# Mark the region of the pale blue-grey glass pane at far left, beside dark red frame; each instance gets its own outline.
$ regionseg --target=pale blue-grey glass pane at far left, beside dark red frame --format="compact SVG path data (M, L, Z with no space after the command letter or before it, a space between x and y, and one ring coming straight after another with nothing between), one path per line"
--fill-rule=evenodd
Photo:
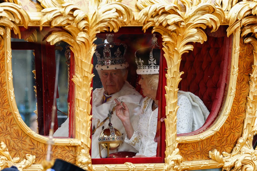
M23 121L37 132L35 70L33 50L12 50L12 72L15 100Z

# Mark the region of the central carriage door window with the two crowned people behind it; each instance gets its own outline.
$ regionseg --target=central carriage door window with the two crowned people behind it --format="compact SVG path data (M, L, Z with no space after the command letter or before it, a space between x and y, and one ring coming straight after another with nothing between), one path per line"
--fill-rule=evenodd
M94 55L91 157L158 156L157 37L106 36L97 39Z

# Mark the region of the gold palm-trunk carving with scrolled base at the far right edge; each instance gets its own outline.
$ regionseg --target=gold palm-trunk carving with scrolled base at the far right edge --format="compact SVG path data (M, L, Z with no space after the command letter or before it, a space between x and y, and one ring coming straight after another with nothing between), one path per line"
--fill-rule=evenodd
M251 43L254 47L254 65L252 65L252 74L250 74L251 81L249 82L250 91L249 96L247 97L246 104L246 116L244 120L244 130L242 137L237 140L237 144L234 147L232 153L223 152L222 155L216 149L209 152L210 158L217 160L219 163L222 163L223 170L230 169L242 169L242 170L256 170L257 161L256 156L257 152L253 149L252 140L253 136L256 134L257 125L255 125L255 120L257 117L256 108L257 108L257 41L254 37L248 37L244 41L245 43Z

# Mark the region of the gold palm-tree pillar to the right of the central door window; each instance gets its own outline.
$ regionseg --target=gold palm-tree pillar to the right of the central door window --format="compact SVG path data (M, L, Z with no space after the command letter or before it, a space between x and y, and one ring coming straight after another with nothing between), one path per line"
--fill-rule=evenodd
M224 12L220 7L213 4L204 4L199 1L182 1L186 7L186 12L182 13L182 8L177 1L168 3L158 0L141 0L137 6L141 12L137 16L143 25L145 31L153 26L152 32L159 32L163 39L163 51L166 58L167 86L166 89L166 158L164 170L175 169L181 170L180 163L182 156L177 148L176 140L176 112L178 83L183 72L179 72L181 55L189 50L193 50L192 45L188 42L203 42L207 40L206 34L202 29L206 26L213 27L212 31L218 29L224 19ZM201 11L201 13L198 13ZM210 135L214 134L212 131Z

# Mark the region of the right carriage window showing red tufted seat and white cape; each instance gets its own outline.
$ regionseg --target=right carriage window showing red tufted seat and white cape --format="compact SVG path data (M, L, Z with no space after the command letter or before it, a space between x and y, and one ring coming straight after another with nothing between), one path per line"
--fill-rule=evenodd
M178 88L179 93L187 96L192 102L193 117L190 118L192 130L190 132L177 130L178 136L198 134L213 123L226 97L228 75L230 75L232 36L227 37L224 34L216 37L212 34L203 44L191 44L194 50L181 56L180 71L184 74L181 75L182 80ZM182 97L178 97L178 103ZM183 122L178 117L177 128L181 123Z

